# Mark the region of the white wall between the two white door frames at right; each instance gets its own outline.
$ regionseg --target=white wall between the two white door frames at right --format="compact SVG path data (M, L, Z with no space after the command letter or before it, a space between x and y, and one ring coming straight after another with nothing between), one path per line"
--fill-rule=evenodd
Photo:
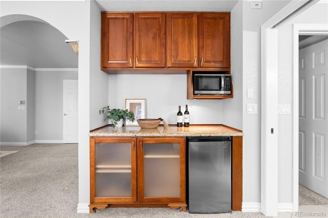
M278 28L278 104L292 105L293 24L327 24L328 4L315 4ZM292 120L278 116L278 202L292 202Z

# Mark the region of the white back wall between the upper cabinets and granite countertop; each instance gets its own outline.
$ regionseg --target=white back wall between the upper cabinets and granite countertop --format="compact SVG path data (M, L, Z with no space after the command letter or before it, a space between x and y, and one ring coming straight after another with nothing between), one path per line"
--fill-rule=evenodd
M109 75L110 107L125 108L126 98L146 98L146 118L169 124L176 124L178 106L183 112L186 104L191 124L222 123L222 100L187 100L186 74Z

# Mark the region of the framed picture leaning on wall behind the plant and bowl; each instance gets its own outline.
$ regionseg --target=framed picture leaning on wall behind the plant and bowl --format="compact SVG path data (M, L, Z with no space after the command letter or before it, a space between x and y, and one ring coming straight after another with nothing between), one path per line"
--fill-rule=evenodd
M146 98L126 98L125 109L133 112L134 121L125 119L125 126L138 126L137 119L146 118Z

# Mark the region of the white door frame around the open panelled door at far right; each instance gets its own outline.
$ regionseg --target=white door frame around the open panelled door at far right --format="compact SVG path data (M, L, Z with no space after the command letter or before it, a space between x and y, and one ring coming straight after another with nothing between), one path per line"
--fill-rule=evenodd
M328 35L326 24L293 24L293 211L298 211L298 171L299 171L299 35Z

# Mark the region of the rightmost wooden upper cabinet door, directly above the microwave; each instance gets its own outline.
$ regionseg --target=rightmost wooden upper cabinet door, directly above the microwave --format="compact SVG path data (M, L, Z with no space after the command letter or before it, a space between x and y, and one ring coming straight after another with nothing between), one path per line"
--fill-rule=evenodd
M230 13L199 14L199 67L230 67Z

